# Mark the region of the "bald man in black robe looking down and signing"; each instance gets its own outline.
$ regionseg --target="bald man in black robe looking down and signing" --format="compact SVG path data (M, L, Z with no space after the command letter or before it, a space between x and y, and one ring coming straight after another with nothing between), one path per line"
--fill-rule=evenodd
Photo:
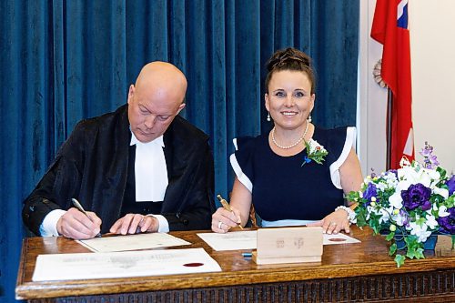
M176 66L144 66L127 105L76 125L25 199L25 226L75 239L210 228L213 157L208 136L177 116L186 92Z

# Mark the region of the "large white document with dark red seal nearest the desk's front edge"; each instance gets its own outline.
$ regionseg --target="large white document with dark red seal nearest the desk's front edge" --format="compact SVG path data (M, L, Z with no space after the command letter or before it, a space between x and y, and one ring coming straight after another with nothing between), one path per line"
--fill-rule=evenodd
M34 281L128 278L221 271L204 248L39 255Z

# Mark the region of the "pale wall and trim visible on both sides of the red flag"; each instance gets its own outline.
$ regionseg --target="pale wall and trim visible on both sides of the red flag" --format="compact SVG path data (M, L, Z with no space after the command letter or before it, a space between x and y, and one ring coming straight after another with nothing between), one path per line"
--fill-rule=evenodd
M360 1L359 157L364 174L385 169L387 91L372 78L382 45L369 37L376 1ZM428 141L455 172L455 1L410 0L412 116L416 157Z

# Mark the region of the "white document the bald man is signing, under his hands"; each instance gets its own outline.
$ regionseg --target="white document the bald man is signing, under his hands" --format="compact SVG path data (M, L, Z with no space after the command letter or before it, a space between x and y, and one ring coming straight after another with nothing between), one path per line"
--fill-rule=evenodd
M114 237L95 237L88 240L77 240L78 243L94 252L112 252L158 247L177 247L191 244L181 238L166 233L147 233Z

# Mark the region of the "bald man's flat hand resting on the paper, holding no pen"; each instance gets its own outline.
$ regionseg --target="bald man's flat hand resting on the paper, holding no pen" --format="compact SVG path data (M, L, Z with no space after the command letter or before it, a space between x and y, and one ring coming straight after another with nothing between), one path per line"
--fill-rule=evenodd
M116 220L110 228L113 234L136 234L145 232L157 232L159 227L156 217L144 216L141 214L127 214Z

